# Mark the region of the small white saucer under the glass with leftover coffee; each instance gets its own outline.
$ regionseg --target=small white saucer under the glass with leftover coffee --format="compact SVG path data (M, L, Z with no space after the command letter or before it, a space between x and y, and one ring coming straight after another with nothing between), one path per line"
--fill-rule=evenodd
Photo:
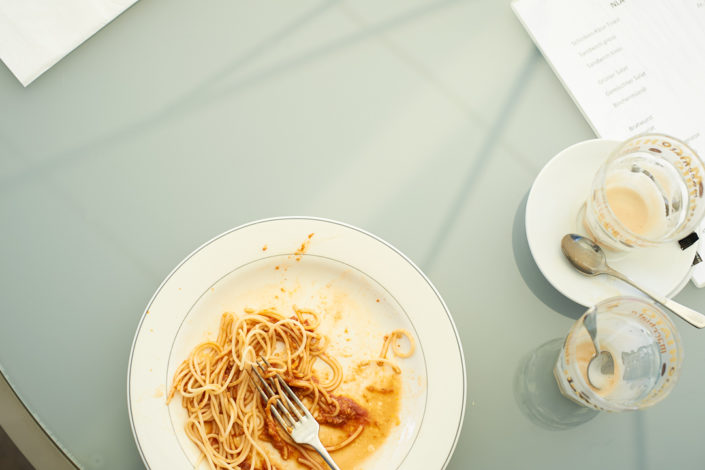
M585 306L618 295L645 297L610 276L580 274L560 248L563 235L585 235L585 230L578 226L578 211L588 196L595 173L618 144L614 140L594 139L561 151L536 177L526 203L526 237L536 264L553 287ZM640 248L619 257L608 253L607 262L644 287L672 297L688 283L697 245L681 250L673 242Z

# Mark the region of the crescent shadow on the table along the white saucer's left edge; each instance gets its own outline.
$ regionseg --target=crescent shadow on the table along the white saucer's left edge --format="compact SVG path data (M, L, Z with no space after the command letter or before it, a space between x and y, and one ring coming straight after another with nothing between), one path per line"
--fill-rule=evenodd
M528 198L529 193L527 191L514 214L514 224L512 225L512 250L519 274L521 274L524 283L534 295L551 310L577 320L585 312L585 307L558 292L543 276L531 255L529 241L526 238L525 223L526 201Z

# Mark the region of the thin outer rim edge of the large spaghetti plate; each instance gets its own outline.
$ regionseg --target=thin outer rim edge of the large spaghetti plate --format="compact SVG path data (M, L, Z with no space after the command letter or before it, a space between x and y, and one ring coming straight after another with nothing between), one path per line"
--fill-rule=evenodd
M455 431L455 436L453 439L453 443L450 446L448 450L448 455L446 456L445 461L443 462L443 465L441 469L445 469L448 466L448 463L450 462L450 459L452 458L453 454L455 453L455 449L458 445L458 441L460 440L460 435L462 433L463 429L463 424L465 421L465 413L467 410L467 393L468 393L468 387L467 387L467 365L465 363L465 352L463 349L463 344L462 340L460 337L460 333L458 332L457 325L455 324L455 321L453 319L453 316L450 313L450 310L448 309L448 305L445 303L445 300L441 296L440 292L436 288L436 286L431 282L431 279L419 268L416 263L414 263L408 256L406 256L401 250L396 248L394 245L391 243L387 242L386 240L380 238L379 236L365 230L362 228L359 228L357 226L348 224L346 222L341 222L338 220L334 219L329 219L329 218L324 218L324 217L317 217L317 216L305 216L305 215L291 215L291 216L275 216L275 217L267 217L267 218L262 218L262 219L257 219L253 220L251 222L246 222L244 224L238 225L236 227L233 227L231 229L228 229L212 238L207 240L206 242L202 243L199 245L196 249L192 250L187 256L185 256L170 272L167 274L167 276L162 280L162 282L159 284L159 287L155 290L154 294L152 294L151 298L149 299L149 302L147 302L147 305L145 309L142 312L142 315L140 317L139 322L137 323L137 327L135 329L135 334L132 338L132 344L130 346L130 352L129 352L129 359L128 359L128 364L127 364L127 380L126 380L126 404L127 404L127 411L128 411L128 417L130 421L130 429L132 431L132 437L135 442L135 445L137 446L137 450L140 454L140 458L142 460L142 463L148 468L151 469L152 467L149 465L149 462L147 462L147 459L145 457L145 454L142 450L142 446L140 444L140 440L137 436L137 430L135 429L135 423L134 423L134 418L133 418L133 413L132 413L132 400L131 400L131 390L130 390L130 385L131 385L131 373L132 373L132 360L134 357L134 351L135 351L135 346L137 344L137 339L138 336L142 330L142 325L144 323L144 320L147 316L147 312L149 311L150 307L154 303L154 300L157 298L159 293L162 291L164 286L169 282L169 280L176 274L181 267L187 263L191 258L193 258L197 253L199 253L201 250L206 248L207 246L211 245L215 241L235 232L238 230L245 229L247 227L253 226L253 225L258 225L262 223L268 223L268 222L278 222L278 221L287 221L287 220L309 220L309 221L315 221L315 222L323 222L323 223L329 223L333 225L338 225L341 226L345 229L348 230L353 230L355 232L358 232L362 235L365 235L367 237L372 238L374 241L382 244L386 248L390 249L392 252L394 252L397 256L399 256L402 260L404 260L406 263L408 263L414 271L416 271L416 274L421 276L423 281L431 288L434 296L436 299L440 302L440 305L443 307L443 311L446 315L446 318L452 328L453 334L455 336L455 343L456 346L458 347L458 354L460 358L460 364L461 364L461 370L462 370L462 400L461 400L461 407L460 407L460 419L458 421L456 431Z

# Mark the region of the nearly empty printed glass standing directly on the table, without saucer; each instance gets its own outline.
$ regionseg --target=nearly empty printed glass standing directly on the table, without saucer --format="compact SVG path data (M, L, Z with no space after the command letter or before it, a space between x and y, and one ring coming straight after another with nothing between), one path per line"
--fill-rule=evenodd
M613 358L611 373L590 366L597 354L584 322L592 314L599 347ZM614 297L575 322L554 375L561 393L580 405L601 411L637 410L670 393L682 361L680 335L668 315L646 300Z

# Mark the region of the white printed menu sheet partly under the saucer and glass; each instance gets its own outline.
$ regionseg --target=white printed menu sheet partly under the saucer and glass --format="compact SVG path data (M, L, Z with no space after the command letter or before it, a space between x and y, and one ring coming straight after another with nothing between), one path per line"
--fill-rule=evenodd
M599 137L666 133L705 158L705 0L513 0L512 8ZM693 281L705 286L705 263Z

